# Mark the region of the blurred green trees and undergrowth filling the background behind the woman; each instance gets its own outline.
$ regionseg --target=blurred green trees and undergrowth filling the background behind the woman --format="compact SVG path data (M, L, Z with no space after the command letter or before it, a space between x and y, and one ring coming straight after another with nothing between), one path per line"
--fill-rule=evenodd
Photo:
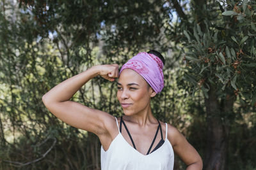
M2 0L0 169L100 169L100 143L54 117L42 96L95 64L151 49L165 59L152 100L204 169L256 169L255 0ZM120 116L116 84L94 78L72 100ZM175 169L185 169L175 158Z

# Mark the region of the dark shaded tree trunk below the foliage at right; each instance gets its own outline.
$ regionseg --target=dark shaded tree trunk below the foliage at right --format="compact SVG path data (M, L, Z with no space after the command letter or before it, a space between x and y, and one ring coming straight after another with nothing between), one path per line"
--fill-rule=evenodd
M227 114L232 113L234 99L227 97L220 101L216 91L209 90L209 98L205 98L207 114L207 148L204 159L205 170L224 170L229 124L225 122Z

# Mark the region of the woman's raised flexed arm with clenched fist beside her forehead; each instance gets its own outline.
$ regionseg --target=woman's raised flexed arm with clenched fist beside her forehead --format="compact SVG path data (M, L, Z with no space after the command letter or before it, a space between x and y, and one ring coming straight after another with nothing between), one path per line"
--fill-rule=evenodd
M104 121L108 121L112 117L111 115L70 101L70 98L76 94L77 90L97 75L109 81L114 81L118 77L118 65L93 66L83 73L61 82L42 97L46 108L69 125L98 135L106 132Z

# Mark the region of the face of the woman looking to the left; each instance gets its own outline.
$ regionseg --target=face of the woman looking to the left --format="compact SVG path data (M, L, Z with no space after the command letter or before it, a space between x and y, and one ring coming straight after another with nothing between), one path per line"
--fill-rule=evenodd
M156 96L147 81L132 69L122 71L117 86L117 99L125 115L131 116L144 111L150 106L150 98Z

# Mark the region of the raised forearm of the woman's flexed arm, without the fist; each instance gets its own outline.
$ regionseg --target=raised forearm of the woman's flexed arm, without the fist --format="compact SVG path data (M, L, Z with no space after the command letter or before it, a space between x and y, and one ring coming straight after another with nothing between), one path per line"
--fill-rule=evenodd
M99 66L93 66L56 85L43 96L44 103L68 101L87 81L99 75L98 68Z

